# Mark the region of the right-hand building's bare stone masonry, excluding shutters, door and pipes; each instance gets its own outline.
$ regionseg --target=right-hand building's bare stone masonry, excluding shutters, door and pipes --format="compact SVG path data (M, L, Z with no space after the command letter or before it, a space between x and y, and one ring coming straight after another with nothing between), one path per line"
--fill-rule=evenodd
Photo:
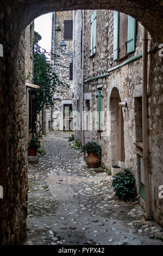
M84 56L84 80L106 74L108 69L123 63L126 59L142 52L142 26L138 23L136 36L136 50L125 59L113 61L113 12L97 10L96 54L90 57L91 44L91 15L93 11L85 11L85 56ZM74 20L78 16L74 18ZM81 20L81 17L78 17ZM79 22L78 20L76 22ZM151 40L151 36L149 39ZM74 38L74 40L77 40ZM160 42L150 41L149 47L155 47ZM78 47L80 41L78 40ZM156 48L155 48L156 49ZM148 61L148 132L149 132L149 173L151 180L151 209L152 216L159 223L162 219L162 199L158 197L159 186L163 184L162 175L162 58L158 51L150 54ZM74 71L76 76L76 71ZM153 75L154 74L154 75ZM92 117L92 131L86 131L93 141L102 144L102 164L108 170L113 164L126 168L132 167L136 179L137 194L141 190L140 157L142 149L137 142L142 141L142 58L109 72L108 76L94 81L85 82L84 94L91 93L91 110L97 111L97 90L103 92L104 130L108 134L96 129L96 116ZM77 88L74 94L80 97ZM85 102L85 100L84 100ZM128 107L122 108L124 131L124 155L125 162L118 161L118 102L127 102ZM86 107L86 105L85 105ZM117 110L116 110L117 109ZM86 108L85 108L86 110ZM108 113L108 116L107 116ZM108 118L108 119L107 119ZM99 140L101 134L101 141ZM85 136L86 139L86 136ZM87 141L86 141L87 142ZM122 142L123 143L123 142Z

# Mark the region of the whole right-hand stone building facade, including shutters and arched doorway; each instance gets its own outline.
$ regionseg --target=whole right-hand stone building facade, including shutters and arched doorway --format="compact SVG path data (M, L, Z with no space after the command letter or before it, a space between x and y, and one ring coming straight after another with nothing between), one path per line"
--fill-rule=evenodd
M115 15L115 16L114 16ZM110 173L115 166L132 168L136 179L137 195L145 207L142 146L142 26L130 16L111 10L86 10L84 26L84 142L96 141L102 146L102 164ZM92 23L96 21L96 38L92 45ZM135 29L135 47L129 50L132 39L126 31L130 23ZM74 11L74 55L81 54L82 11ZM118 31L118 35L116 32ZM130 33L130 32L128 32ZM115 38L118 36L118 43ZM135 38L134 38L135 36ZM148 34L148 155L151 214L160 224L162 199L159 187L163 184L162 173L162 76L160 72L159 42ZM128 42L127 42L128 41ZM161 42L160 42L161 43ZM96 47L95 47L96 46ZM94 47L94 48L93 48ZM117 49L120 48L117 57ZM92 52L94 51L94 52ZM126 54L126 51L128 53ZM155 70L155 71L154 71ZM81 59L73 69L73 108L81 113ZM122 107L119 103L127 103ZM98 115L98 113L101 114ZM81 116L81 115L80 115ZM90 121L91 120L91 121ZM76 140L82 143L80 126L74 127ZM88 129L90 125L90 128Z

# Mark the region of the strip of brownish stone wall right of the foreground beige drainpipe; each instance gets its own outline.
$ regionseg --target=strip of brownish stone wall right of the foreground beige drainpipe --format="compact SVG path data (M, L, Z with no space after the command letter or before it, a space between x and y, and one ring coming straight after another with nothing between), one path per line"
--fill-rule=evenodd
M156 43L156 42L155 42ZM158 43L158 42L157 42ZM149 131L149 172L151 182L152 213L156 221L163 224L162 198L158 197L159 186L163 185L163 57L158 51L151 53L148 88L148 131Z

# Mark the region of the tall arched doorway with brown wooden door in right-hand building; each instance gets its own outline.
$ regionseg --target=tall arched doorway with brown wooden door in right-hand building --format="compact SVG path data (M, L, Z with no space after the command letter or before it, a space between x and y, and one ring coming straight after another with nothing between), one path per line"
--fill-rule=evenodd
M118 89L114 87L110 95L110 112L111 112L111 166L125 167L124 153L124 129L122 107L118 104L121 102Z

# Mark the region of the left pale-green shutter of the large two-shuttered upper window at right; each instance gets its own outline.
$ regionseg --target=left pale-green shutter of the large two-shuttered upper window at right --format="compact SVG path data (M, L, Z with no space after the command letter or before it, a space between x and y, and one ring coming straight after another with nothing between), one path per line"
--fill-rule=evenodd
M119 11L114 11L114 53L113 60L119 58L119 28L120 27L120 13Z

